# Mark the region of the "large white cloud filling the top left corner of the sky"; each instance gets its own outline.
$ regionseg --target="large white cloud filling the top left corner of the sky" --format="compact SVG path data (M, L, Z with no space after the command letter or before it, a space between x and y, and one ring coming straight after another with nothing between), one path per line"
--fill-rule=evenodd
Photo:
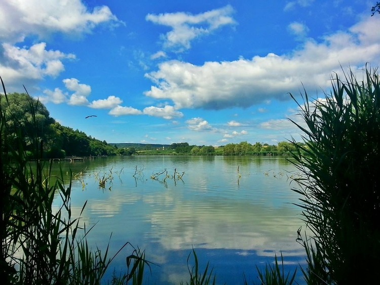
M0 15L0 38L9 43L22 42L29 34L40 38L54 32L82 34L101 23L123 24L107 6L90 11L81 0L1 1Z

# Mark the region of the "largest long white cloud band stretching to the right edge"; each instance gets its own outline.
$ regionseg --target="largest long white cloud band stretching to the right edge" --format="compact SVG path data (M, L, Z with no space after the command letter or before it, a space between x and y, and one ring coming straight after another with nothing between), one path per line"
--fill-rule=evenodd
M155 84L144 94L171 100L176 109L247 108L268 100L289 100L301 83L307 90L330 87L330 73L340 65L361 68L380 61L379 17L367 17L349 31L327 35L318 43L309 39L288 55L255 56L235 61L194 65L166 61L145 76Z

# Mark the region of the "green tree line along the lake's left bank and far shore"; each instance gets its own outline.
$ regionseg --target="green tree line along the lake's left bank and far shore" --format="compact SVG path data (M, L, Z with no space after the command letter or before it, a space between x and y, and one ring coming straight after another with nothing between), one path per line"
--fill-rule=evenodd
M28 158L35 156L35 138L41 145L45 158L64 158L66 156L102 156L131 155L138 150L151 149L150 145L141 147L120 147L101 141L86 133L62 126L50 113L46 106L25 93L11 93L0 97L1 108L7 115L7 137L12 145L22 144ZM33 139L32 139L33 138ZM269 145L256 142L250 144L243 141L221 146L223 151L216 152L209 145L189 145L187 142L172 143L166 149L173 149L177 154L191 155L282 155L295 150L290 142L279 142Z

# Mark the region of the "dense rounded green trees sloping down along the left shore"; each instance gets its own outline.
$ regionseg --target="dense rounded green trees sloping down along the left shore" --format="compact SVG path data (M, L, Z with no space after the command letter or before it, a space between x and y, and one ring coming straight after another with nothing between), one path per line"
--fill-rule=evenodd
M33 138L43 142L44 158L63 158L67 156L116 155L116 148L84 132L61 126L50 117L44 104L27 93L0 95L0 105L6 116L11 144L22 143L23 148L35 158L36 146Z

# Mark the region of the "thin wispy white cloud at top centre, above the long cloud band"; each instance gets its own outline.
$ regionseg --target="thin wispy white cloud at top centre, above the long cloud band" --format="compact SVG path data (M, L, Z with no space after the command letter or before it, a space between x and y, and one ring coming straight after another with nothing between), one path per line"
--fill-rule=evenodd
M231 16L233 12L234 9L227 5L197 15L183 12L148 14L145 19L155 24L171 27L171 31L162 35L164 46L183 51L191 47L193 39L206 35L220 26L236 24Z

